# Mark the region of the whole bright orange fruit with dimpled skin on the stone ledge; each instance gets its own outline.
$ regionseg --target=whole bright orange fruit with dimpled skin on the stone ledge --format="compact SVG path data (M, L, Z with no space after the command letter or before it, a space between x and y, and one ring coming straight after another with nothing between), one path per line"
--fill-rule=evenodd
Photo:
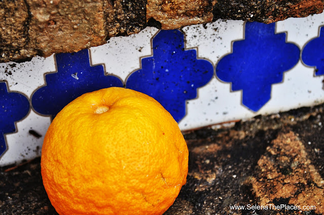
M188 173L177 122L153 98L124 88L84 94L54 118L42 177L59 214L163 214Z

